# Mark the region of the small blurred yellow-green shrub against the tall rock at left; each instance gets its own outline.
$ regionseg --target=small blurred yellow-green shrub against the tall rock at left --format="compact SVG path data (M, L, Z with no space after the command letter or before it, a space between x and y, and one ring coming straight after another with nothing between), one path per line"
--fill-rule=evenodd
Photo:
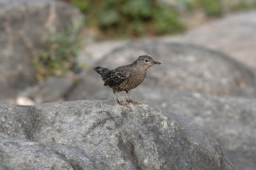
M78 45L73 42L71 36L64 33L49 33L43 42L40 50L33 60L37 71L38 80L46 78L48 75L63 75L75 68L75 57Z

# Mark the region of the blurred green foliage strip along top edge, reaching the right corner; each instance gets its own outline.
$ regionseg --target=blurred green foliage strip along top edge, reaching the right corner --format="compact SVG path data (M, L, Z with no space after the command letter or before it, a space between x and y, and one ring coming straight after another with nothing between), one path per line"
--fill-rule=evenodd
M203 11L209 18L256 7L256 0L62 0L80 8L100 39L156 36L185 30L181 16ZM183 15L185 14L185 15ZM187 15L188 14L188 15ZM186 19L184 19L186 20ZM100 32L100 33L99 33Z

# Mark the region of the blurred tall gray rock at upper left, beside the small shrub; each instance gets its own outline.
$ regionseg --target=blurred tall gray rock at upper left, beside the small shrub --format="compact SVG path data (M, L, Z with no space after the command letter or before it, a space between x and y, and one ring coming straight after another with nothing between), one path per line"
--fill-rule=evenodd
M67 3L47 0L0 0L0 103L35 83L32 59L49 31L79 29L82 15Z

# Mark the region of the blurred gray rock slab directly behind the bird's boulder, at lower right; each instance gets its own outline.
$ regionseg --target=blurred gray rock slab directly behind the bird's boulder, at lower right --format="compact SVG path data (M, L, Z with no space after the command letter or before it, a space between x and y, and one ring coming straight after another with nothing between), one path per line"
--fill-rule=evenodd
M133 100L175 112L203 126L220 142L237 169L256 167L256 99L183 92L168 88L139 86L130 91ZM122 100L125 92L119 94ZM92 99L115 101L105 87Z

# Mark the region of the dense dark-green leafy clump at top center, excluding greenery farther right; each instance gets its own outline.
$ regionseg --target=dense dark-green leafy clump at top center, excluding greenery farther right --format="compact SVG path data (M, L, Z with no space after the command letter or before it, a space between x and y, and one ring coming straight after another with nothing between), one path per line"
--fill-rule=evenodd
M102 37L139 37L184 31L180 15L172 6L160 7L156 0L72 0L85 13L86 25L97 27ZM76 2L76 3L75 3ZM84 9L86 6L87 10Z

